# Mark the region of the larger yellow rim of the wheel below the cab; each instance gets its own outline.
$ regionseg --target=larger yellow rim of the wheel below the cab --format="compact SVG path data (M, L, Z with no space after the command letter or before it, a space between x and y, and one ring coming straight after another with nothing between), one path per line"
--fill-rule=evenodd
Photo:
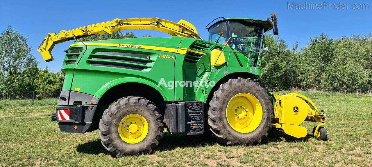
M256 96L240 93L232 97L226 107L227 122L235 131L249 133L261 123L262 105Z

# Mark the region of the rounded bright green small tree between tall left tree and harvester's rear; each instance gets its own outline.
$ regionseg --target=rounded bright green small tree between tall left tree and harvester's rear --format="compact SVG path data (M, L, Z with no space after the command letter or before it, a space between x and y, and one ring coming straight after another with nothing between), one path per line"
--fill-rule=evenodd
M61 91L64 81L62 72L49 72L47 66L36 76L34 86L38 92L36 98L50 98ZM57 93L57 94L58 94Z

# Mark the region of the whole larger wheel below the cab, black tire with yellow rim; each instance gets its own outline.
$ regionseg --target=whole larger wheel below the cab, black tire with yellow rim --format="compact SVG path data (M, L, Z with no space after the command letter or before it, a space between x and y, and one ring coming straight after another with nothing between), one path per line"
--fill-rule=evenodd
M208 124L212 135L225 144L259 144L272 128L270 96L251 79L222 83L209 102Z

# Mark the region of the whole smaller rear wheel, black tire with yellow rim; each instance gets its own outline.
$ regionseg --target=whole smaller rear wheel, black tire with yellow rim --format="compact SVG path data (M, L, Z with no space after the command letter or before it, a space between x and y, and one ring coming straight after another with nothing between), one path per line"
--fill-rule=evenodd
M99 137L115 157L147 154L163 137L159 109L145 98L128 96L113 102L99 122Z

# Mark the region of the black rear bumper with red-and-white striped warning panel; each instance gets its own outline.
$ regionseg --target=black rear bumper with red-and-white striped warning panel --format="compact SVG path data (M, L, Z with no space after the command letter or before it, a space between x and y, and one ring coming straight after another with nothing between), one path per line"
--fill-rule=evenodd
M61 132L85 133L90 131L97 105L57 106L56 116Z

